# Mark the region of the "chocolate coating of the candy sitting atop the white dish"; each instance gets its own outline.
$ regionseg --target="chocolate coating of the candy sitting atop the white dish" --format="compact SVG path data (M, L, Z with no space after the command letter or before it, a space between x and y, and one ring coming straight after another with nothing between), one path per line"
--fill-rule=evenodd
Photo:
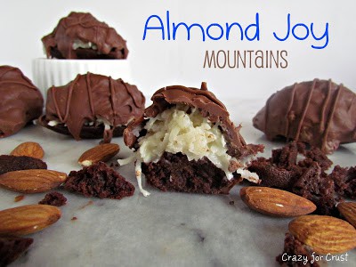
M73 49L76 40L91 42L97 49ZM126 41L105 22L91 13L70 12L62 18L53 32L42 38L47 58L57 59L126 59Z

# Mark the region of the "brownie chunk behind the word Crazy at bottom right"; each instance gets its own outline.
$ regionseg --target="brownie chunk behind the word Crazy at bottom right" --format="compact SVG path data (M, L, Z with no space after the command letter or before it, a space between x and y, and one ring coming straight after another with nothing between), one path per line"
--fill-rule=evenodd
M283 253L276 257L276 261L282 266L291 267L319 267L312 257L313 251L310 247L305 246L301 241L286 233L284 240Z

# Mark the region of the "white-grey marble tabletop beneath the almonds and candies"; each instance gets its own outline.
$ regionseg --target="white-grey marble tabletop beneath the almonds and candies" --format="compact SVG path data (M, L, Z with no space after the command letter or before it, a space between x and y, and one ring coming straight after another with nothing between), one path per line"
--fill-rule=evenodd
M224 101L224 100L223 100ZM236 123L242 123L247 142L266 145L266 155L278 143L267 142L255 130L251 119L264 101L224 101ZM76 142L38 125L0 141L0 154L8 154L20 142L39 142L50 169L69 173L78 170L77 158L97 144L96 140ZM119 158L131 152L122 138ZM345 145L330 158L342 166L354 166L356 144ZM133 182L136 191L122 200L85 198L61 191L68 204L61 207L61 220L44 231L30 235L35 239L28 253L12 266L277 266L284 234L291 219L273 218L252 212L239 198L239 188L229 196L164 193L150 186L144 198L137 190L134 167L117 169ZM27 195L0 189L0 208L37 203L44 193ZM230 205L230 201L234 201ZM93 201L91 204L90 201ZM73 217L76 221L72 221ZM356 253L347 262L328 262L329 266L354 266Z

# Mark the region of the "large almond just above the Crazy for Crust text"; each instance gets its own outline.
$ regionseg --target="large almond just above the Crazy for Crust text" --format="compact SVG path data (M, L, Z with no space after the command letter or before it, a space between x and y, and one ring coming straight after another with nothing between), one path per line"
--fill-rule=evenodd
M318 254L339 254L356 247L356 230L336 217L303 215L290 222L288 229Z

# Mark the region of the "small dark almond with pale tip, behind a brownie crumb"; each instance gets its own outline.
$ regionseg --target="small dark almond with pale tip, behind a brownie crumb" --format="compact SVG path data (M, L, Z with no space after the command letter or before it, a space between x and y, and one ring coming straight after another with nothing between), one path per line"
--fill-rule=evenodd
M117 155L120 147L116 143L103 143L93 149L86 150L78 159L81 166L91 166L99 161L108 161Z

